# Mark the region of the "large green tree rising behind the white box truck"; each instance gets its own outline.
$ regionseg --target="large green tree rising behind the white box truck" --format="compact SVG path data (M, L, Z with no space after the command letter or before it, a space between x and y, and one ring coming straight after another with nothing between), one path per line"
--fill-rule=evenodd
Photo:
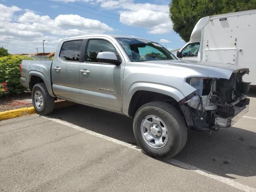
M198 20L205 16L256 9L256 0L172 0L173 29L188 42Z

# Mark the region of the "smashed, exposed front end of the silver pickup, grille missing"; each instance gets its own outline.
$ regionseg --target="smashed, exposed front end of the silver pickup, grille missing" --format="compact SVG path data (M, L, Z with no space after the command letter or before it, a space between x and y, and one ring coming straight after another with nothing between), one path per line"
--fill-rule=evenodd
M196 91L180 101L189 127L197 130L218 130L230 127L249 110L250 83L242 76L248 69L236 70L230 79L190 77L186 83Z

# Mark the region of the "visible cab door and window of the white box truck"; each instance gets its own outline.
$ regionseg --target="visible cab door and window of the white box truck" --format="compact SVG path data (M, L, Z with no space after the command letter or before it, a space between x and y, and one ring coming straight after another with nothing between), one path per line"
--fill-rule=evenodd
M180 58L179 60L193 60L193 61L199 61L200 55L198 55L200 47L200 42L194 42L188 44L186 47L182 49L180 52Z

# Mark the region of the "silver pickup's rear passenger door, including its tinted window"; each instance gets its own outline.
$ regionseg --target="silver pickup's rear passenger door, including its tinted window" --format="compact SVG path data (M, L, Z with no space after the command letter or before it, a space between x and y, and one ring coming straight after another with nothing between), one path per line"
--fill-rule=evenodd
M63 42L52 64L52 90L59 98L80 101L79 67L83 40Z

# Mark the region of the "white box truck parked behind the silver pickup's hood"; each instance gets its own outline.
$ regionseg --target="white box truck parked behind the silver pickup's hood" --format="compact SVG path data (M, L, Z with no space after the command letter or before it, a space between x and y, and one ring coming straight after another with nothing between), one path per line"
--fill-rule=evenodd
M224 63L250 69L245 82L256 87L256 10L201 18L190 41L177 51L180 60Z

